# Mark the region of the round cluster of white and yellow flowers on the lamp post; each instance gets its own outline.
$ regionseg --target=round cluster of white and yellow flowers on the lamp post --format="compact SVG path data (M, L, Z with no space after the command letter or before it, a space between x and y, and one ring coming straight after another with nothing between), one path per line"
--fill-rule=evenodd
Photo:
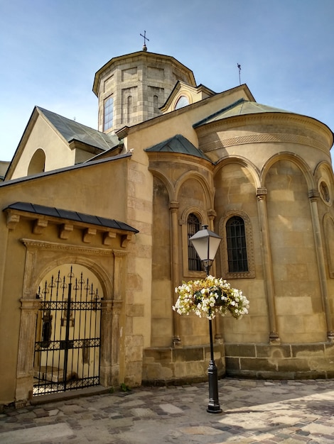
M217 314L225 316L230 313L240 319L248 313L247 297L222 278L209 275L205 279L183 282L175 292L178 299L173 310L181 315L193 312L200 318L212 320Z

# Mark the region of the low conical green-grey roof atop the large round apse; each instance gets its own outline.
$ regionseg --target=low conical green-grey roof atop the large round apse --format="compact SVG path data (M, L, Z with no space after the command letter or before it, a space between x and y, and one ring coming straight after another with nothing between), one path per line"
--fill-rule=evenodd
M259 114L259 113L291 113L291 111L274 108L273 106L257 104L257 102L255 101L240 99L238 101L235 101L233 104L226 106L223 109L220 109L220 111L217 111L211 116L203 118L202 121L195 123L193 125L193 128L204 125L205 123L219 121L222 118L245 116L247 114Z

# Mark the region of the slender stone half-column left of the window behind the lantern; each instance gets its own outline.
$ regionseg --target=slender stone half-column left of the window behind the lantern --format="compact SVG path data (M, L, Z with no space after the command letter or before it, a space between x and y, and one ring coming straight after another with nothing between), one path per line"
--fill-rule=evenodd
M176 303L177 294L174 291L180 285L180 264L178 260L178 202L170 202L169 210L171 211L171 262L172 262L172 302ZM181 345L180 338L180 315L173 311L173 345Z

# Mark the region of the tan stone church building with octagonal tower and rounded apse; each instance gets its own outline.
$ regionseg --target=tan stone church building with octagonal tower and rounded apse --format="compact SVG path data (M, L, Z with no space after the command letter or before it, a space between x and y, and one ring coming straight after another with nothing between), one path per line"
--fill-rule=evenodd
M203 225L250 301L215 318L220 376L334 377L330 128L145 46L93 91L98 130L36 106L2 173L0 404L205 379L208 320L172 310Z

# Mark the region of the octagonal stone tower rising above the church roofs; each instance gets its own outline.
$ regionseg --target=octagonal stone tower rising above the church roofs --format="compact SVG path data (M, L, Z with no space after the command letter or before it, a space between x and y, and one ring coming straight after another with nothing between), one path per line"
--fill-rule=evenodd
M176 82L195 87L193 72L169 55L142 51L109 60L97 73L98 129L104 133L160 116Z

